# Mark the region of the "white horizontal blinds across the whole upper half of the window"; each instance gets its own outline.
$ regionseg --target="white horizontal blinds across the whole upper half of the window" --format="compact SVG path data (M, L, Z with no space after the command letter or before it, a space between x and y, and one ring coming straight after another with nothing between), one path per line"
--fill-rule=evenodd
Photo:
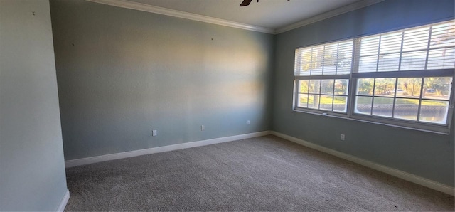
M453 69L455 21L298 48L294 64L295 76Z

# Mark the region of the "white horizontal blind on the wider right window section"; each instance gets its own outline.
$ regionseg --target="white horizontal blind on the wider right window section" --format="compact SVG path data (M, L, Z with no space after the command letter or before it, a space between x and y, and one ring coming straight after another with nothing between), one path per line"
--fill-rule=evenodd
M358 39L358 73L435 70L455 65L455 21Z

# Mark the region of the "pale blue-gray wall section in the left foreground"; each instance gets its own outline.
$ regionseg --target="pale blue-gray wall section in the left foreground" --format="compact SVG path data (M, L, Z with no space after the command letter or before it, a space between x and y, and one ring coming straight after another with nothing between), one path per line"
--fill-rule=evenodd
M68 190L48 1L0 1L0 64L0 211L55 211Z

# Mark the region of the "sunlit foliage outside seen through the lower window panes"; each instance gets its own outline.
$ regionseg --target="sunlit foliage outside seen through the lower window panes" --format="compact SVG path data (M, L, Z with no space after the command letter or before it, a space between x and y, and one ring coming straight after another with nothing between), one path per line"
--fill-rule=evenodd
M375 81L376 80L376 81ZM446 102L437 100L447 100L450 92L452 78L423 78L424 93L423 98L433 100L422 100L422 105L446 105ZM348 80L299 80L299 92L309 93L309 98L301 97L301 104L314 104L314 100L320 104L341 104L346 105L345 97L335 96L332 100L331 95L347 95ZM395 85L397 88L395 89ZM373 95L375 86L375 104L392 104L393 97L397 98L396 104L419 105L422 78L361 78L358 80L358 95ZM319 97L318 94L322 94ZM329 96L324 96L324 94ZM387 98L388 97L388 98ZM358 104L371 104L371 97L359 97Z

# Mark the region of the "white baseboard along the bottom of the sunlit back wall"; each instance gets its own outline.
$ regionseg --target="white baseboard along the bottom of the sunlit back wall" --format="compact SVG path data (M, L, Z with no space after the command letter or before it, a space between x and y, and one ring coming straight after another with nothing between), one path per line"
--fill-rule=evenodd
M178 149L187 149L187 148L191 148L191 147L201 147L201 146L210 145L210 144L232 142L232 141L240 140L240 139L249 139L252 137L260 137L260 136L264 136L267 134L270 134L270 131L253 132L253 133L249 133L249 134L239 134L239 135L230 136L230 137L220 137L220 138L216 138L216 139L207 139L207 140L202 140L202 141L197 141L197 142L173 144L173 145L168 145L168 146L164 146L164 147L153 147L153 148L149 148L149 149L139 149L139 150L134 150L134 151L129 151L129 152L119 152L119 153L105 154L105 155L100 155L100 156L95 156L95 157L73 159L73 160L65 161L65 167L70 168L73 166L94 164L94 163L102 162L102 161L111 161L111 160L123 159L123 158L127 158L127 157L136 157L136 156L140 156L140 155L144 155L144 154L169 152L169 151L178 150Z

